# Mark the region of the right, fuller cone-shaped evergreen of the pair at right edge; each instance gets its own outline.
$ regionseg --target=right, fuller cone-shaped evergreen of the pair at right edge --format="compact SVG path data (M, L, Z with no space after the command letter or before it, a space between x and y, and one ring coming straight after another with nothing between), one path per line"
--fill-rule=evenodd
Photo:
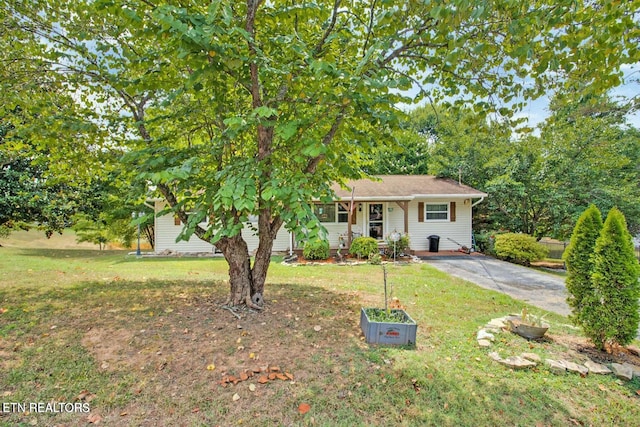
M582 328L599 349L630 343L638 331L640 266L622 212L609 211L592 257L593 291L583 299Z

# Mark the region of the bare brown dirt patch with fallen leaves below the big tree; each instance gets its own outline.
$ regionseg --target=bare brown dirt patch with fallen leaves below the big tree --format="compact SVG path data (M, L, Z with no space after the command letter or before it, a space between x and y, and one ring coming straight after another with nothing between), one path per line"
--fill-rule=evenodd
M97 369L134 380L122 390L133 396L124 407L92 412L107 425L225 425L247 415L282 421L270 411L281 411L283 399L295 404L305 384L326 377L329 388L338 386L332 366L349 366L353 347L366 347L359 296L288 285L271 287L269 296L260 312L232 313L222 306L224 290L161 296L170 308L157 315L94 311L100 323L84 327L82 345Z

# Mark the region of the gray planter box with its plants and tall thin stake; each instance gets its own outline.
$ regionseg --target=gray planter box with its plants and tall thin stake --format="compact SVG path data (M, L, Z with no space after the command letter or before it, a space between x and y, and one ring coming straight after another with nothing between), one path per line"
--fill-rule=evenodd
M401 308L390 308L387 298L387 269L384 272L384 309L360 310L360 328L369 344L415 345L418 325Z

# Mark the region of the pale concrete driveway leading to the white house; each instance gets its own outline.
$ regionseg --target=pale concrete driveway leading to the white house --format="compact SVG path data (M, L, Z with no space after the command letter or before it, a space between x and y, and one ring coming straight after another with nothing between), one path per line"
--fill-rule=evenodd
M563 277L482 255L425 257L424 261L452 276L536 307L565 316L571 312Z

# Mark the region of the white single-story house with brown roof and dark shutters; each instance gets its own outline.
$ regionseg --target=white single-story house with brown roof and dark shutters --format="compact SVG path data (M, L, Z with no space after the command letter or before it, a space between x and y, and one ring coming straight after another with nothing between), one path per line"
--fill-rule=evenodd
M429 249L428 236L437 235L440 250L456 250L472 245L472 209L486 196L457 181L431 175L382 175L379 180L355 180L348 188L334 185L336 201L316 203L315 212L327 230L330 246L344 242L348 230L353 237L369 236L383 241L392 232L409 235L411 249ZM349 207L353 201L351 224ZM155 201L155 212L166 203ZM156 252L213 252L215 248L196 236L176 242L182 224L173 215L156 216ZM249 228L242 231L249 251L257 248L258 237ZM291 233L284 227L274 241L273 250L287 252L296 248Z

